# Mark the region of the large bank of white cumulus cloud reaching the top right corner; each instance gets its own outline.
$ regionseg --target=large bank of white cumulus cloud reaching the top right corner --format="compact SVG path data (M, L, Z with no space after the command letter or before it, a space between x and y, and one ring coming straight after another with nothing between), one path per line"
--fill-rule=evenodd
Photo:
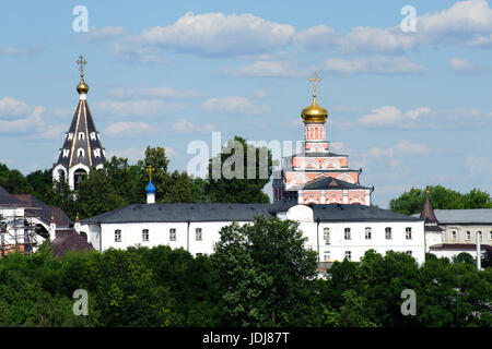
M394 53L423 44L492 46L492 9L487 0L457 1L449 9L417 17L417 32L403 33L399 25L386 28L359 26L338 33L327 25L300 32L295 41L308 49L331 49L342 53Z

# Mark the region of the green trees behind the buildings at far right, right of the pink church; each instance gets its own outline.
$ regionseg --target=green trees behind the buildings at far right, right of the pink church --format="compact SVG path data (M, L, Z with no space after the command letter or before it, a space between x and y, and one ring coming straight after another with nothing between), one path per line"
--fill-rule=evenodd
M389 202L389 209L405 215L420 214L427 195L426 190L434 209L492 208L492 196L479 189L460 193L442 185L433 185L427 189L410 189L399 197L393 198Z

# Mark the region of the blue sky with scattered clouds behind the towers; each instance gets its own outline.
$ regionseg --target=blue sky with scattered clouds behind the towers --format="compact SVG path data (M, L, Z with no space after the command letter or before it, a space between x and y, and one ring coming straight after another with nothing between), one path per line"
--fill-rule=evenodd
M212 131L301 140L317 71L331 148L374 203L427 184L492 192L490 1L12 1L0 23L0 163L25 174L57 157L82 53L109 156L166 146L184 170Z

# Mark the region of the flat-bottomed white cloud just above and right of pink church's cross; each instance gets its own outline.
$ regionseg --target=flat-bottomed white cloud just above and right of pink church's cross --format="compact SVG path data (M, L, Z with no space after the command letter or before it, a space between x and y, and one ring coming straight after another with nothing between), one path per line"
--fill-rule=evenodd
M401 74L419 73L423 67L405 57L366 57L353 60L331 58L321 63L323 71L336 74Z

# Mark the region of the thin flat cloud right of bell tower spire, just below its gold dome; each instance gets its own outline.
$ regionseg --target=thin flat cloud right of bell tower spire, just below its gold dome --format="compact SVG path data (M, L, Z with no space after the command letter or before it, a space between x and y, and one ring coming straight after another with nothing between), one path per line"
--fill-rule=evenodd
M183 109L184 106L166 104L159 99L102 100L94 106L97 115L119 117L157 117Z

